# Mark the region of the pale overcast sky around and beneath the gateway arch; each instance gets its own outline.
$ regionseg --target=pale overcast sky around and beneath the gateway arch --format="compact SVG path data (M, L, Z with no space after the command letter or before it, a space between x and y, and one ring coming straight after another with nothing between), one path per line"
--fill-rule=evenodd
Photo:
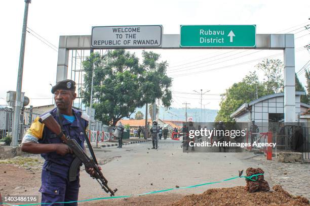
M310 42L310 1L38 1L29 5L28 27L58 46L60 35L90 35L92 26L163 25L164 34L179 34L180 25L255 24L256 33L296 33L295 70L310 59L302 46ZM8 90L16 90L24 1L3 1L0 51L0 105L5 105ZM36 33L36 34L35 34ZM51 84L56 82L57 49L44 44L30 33L26 37L22 91L30 104L51 104ZM53 47L53 46L52 46ZM141 50L130 50L141 57ZM173 107L185 101L200 108L199 95L180 92L210 90L203 104L219 109L218 94L240 81L261 58L273 55L283 60L282 50L231 49L156 49L161 60L169 63L173 77ZM248 62L248 63L246 63ZM236 65L237 64L237 65ZM235 66L234 66L235 65ZM214 69L214 70L212 70ZM207 71L211 70L211 71ZM262 78L262 76L260 76ZM304 73L299 76L305 85ZM177 92L175 92L177 91ZM210 95L213 94L213 95Z

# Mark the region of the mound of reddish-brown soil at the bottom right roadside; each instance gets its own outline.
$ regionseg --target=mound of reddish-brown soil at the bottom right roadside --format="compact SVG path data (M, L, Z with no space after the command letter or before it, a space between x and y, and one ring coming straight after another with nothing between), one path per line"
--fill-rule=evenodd
M302 196L292 196L280 185L274 191L249 193L243 186L208 189L202 194L187 195L169 206L207 206L207 205L270 205L270 206L305 206L309 201Z

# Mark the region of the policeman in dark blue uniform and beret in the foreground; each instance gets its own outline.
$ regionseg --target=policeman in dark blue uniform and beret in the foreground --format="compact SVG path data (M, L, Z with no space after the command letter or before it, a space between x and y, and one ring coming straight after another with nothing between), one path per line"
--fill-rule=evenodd
M82 148L84 147L84 131L88 126L88 116L72 108L76 98L75 82L63 80L52 88L57 108L49 111L62 127L66 136L75 139ZM69 181L70 165L74 159L72 150L61 139L56 137L47 127L36 118L22 140L22 151L40 153L45 159L42 168L42 203L44 205L64 205L52 202L76 201L79 196L80 168L76 171L76 179ZM100 168L100 167L99 167ZM101 169L101 168L100 168ZM93 176L93 168L86 171ZM77 202L65 205L77 205Z

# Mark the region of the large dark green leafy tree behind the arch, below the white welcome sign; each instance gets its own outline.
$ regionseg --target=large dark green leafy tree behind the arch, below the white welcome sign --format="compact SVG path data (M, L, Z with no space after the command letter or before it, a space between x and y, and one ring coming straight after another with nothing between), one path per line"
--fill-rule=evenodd
M143 54L149 54L143 51ZM154 57L159 55L151 53ZM95 118L104 124L115 126L124 117L130 117L136 108L161 98L164 107L171 105L171 78L166 75L167 63L153 61L152 71L146 63L152 62L152 57L143 64L134 53L125 49L108 50L106 54L93 53L83 62L85 70L85 87L81 91L82 102L90 105L92 71L93 108ZM144 58L145 59L145 58ZM154 65L154 66L153 66Z

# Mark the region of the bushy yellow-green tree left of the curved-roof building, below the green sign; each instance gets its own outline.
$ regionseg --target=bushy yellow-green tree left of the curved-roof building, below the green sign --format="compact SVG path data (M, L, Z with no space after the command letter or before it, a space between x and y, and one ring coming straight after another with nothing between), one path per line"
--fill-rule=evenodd
M232 122L231 113L244 103L256 99L256 91L258 98L267 94L264 84L258 81L256 72L250 72L241 82L233 84L221 95L220 110L215 121Z

